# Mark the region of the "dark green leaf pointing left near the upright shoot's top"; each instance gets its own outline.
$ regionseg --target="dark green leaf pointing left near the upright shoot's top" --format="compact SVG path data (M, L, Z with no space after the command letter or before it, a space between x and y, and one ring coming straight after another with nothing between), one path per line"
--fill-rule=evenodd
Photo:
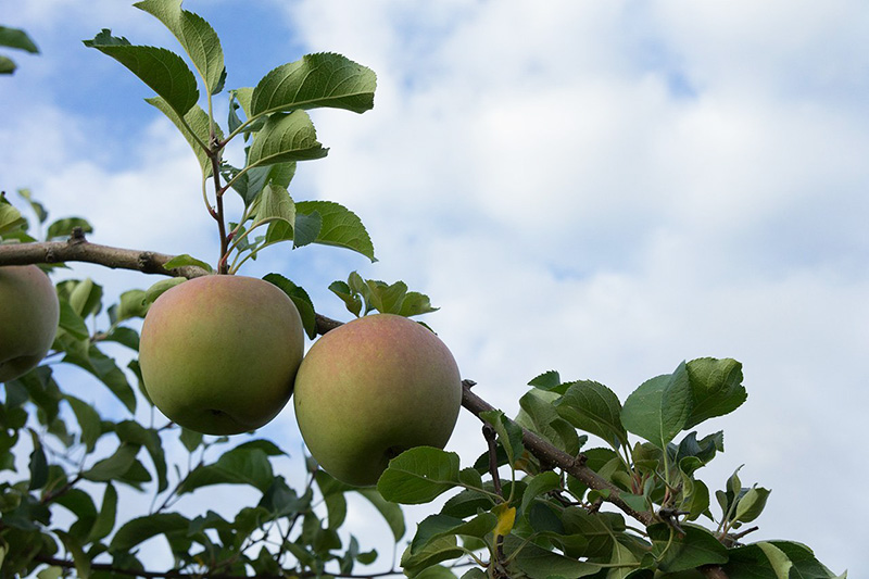
M133 46L126 38L112 36L106 28L92 40L84 42L86 47L96 48L129 68L165 99L178 116L184 116L199 100L193 73L174 52L164 48Z

